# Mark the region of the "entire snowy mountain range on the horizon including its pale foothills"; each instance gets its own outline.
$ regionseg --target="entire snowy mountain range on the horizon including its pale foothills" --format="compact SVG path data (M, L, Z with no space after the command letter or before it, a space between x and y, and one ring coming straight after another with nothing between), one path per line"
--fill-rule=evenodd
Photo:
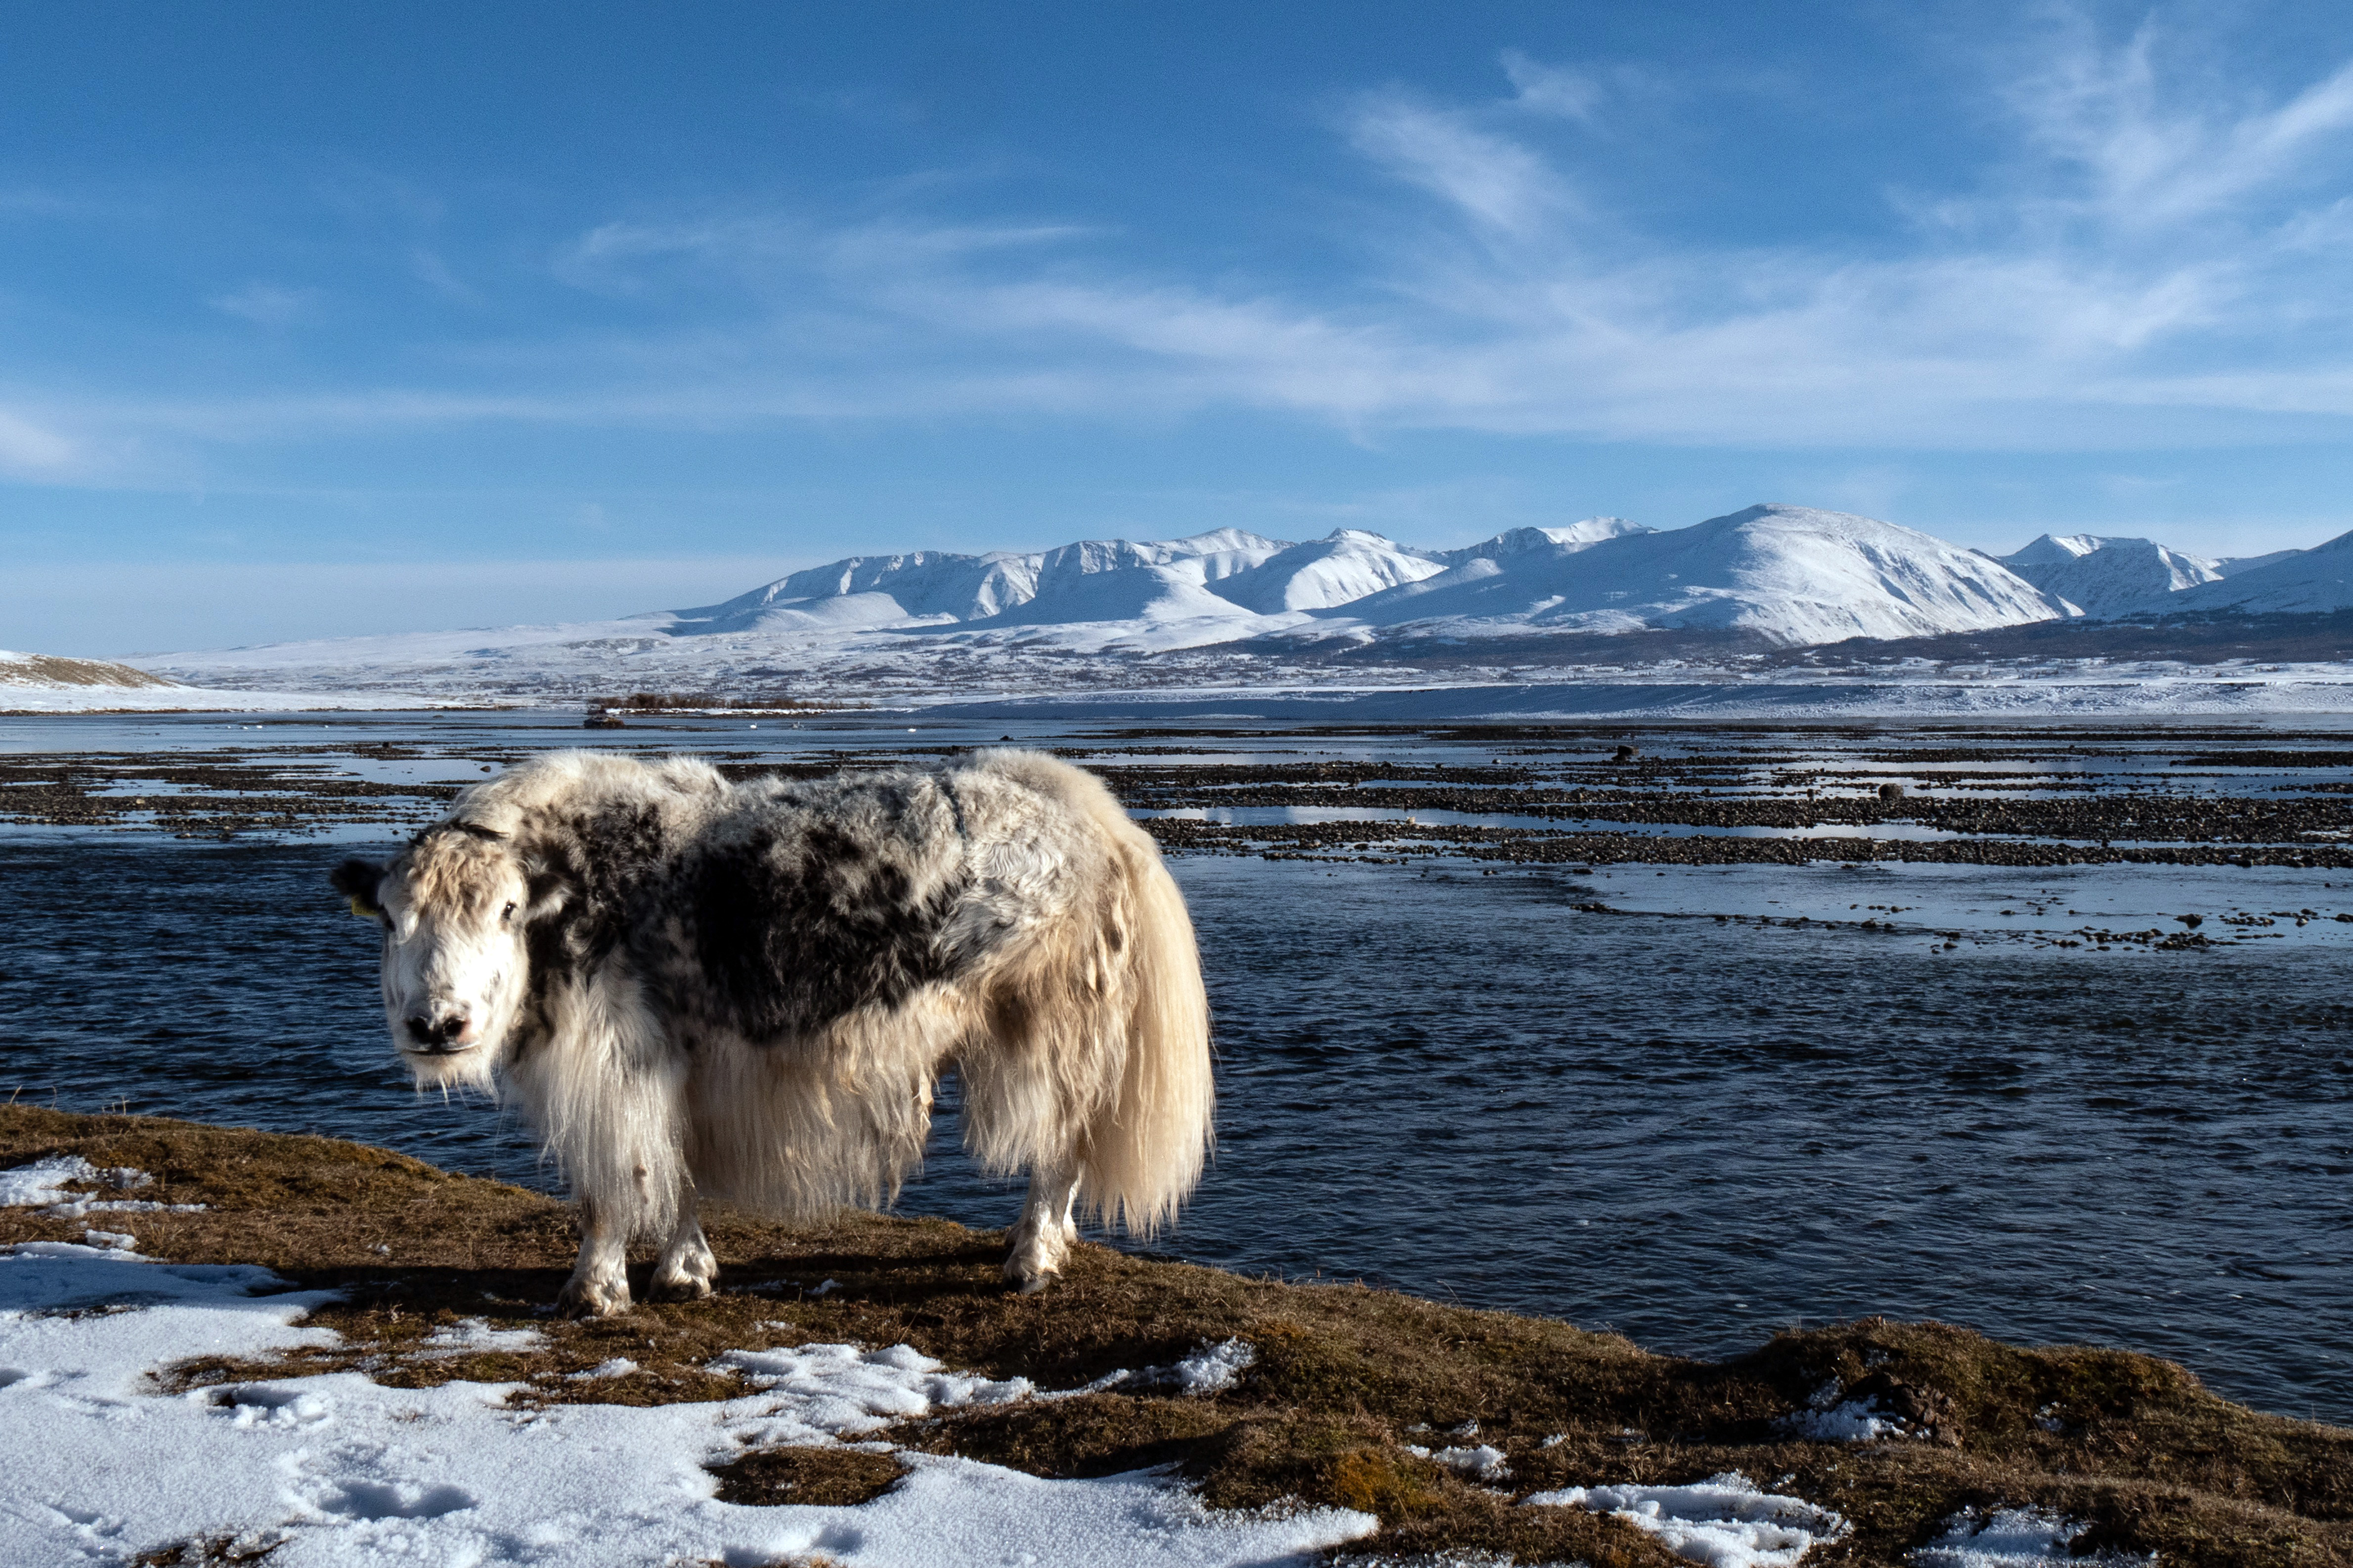
M1569 665L1617 658L1612 632L1809 646L1986 632L2089 607L2353 604L2353 536L2259 562L2082 536L2040 538L2012 559L2017 569L1892 522L1802 505L1753 505L1668 531L1588 517L1452 550L1362 529L1301 543L1214 529L1035 552L859 555L699 609L174 654L141 665L198 684L285 691L682 691L729 682L995 691L1038 679L1122 682L1136 658L1207 649L1219 658L1202 670L1249 658L1327 668L1334 646L1379 661L1384 649L1421 656L1440 644ZM1188 668L1167 663L1153 679L1193 679ZM1367 665L1351 658L1348 668Z

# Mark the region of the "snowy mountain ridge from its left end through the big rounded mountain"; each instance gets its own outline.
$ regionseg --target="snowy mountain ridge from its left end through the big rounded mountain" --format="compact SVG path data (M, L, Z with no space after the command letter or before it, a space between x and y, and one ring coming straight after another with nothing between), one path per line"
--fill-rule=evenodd
M852 557L708 609L671 635L1151 625L1155 649L1249 635L1320 639L1417 625L1438 635L1737 630L1765 642L1925 637L2073 614L1998 562L1927 534L1798 505L1689 529L1624 517L1414 550L1362 529L1282 543L1219 529L1085 541L1040 555ZM1266 621L1273 618L1275 625ZM1089 635L1101 646L1101 635Z

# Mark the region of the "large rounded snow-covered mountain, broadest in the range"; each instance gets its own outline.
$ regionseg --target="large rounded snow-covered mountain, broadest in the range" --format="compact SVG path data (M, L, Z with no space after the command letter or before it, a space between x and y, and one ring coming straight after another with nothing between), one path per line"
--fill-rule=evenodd
M1360 599L1365 625L1449 635L1739 630L1774 644L1932 637L2064 616L2000 562L1805 505L1751 505L1666 534L1478 557Z

